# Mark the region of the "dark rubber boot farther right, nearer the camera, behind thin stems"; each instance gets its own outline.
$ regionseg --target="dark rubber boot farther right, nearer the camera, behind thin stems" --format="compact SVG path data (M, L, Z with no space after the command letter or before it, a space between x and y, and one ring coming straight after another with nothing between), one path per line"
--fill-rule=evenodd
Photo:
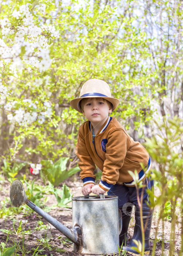
M149 244L149 237L151 231L151 223L152 223L152 216L153 212L150 211L149 207L146 204L142 206L143 210L143 225L145 225L147 221L147 227L145 229L144 237L145 237L145 249L144 255L149 255L150 252L150 244ZM140 207L136 205L136 212L135 212L135 227L132 240L129 242L127 246L123 246L123 251L126 250L127 252L131 253L132 255L140 255L140 253L136 252L132 249L132 247L137 247L136 244L133 242L134 240L140 241L142 244L142 232L141 232L141 224L140 224Z

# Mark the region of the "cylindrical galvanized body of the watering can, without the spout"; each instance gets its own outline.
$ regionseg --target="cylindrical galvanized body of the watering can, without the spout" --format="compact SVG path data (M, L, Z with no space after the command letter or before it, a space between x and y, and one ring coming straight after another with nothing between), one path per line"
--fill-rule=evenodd
M74 252L85 255L110 255L118 253L119 221L118 197L73 197L73 227L82 230L82 244L74 244ZM121 229L121 227L120 227Z

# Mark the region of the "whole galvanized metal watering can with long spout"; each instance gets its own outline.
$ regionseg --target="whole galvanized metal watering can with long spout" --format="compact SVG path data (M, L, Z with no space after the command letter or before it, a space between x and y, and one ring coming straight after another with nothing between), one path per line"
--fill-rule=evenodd
M117 196L78 196L72 198L73 228L68 229L27 199L23 184L14 180L10 199L15 207L26 203L52 226L74 243L74 252L85 255L113 255L118 253L121 233L121 211Z

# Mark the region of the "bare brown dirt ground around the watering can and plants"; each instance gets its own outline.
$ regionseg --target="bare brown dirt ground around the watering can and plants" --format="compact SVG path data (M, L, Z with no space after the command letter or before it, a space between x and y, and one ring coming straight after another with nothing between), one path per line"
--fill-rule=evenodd
M2 182L2 181L1 181ZM41 180L40 180L41 182ZM74 197L75 196L82 196L81 193L81 188L82 188L82 182L79 180L79 177L74 176L74 178L70 178L65 182L65 184L70 188L71 193L73 193ZM5 197L9 196L9 188L10 188L10 183L8 181L3 182L3 189L0 191L0 201L4 200ZM158 190L155 188L155 194L158 194ZM49 200L47 203L47 206L52 206L54 204L57 204L57 200L54 195L49 195ZM69 203L71 206L71 203ZM51 210L49 214L56 218L59 222L61 222L63 225L65 225L68 228L72 228L72 209L71 208L62 208L62 207L57 207L55 210ZM152 222L152 228L151 228L151 251L152 251L152 245L153 245L153 238L155 236L155 228L157 226L157 215L158 215L158 208L155 208L154 215L153 215L153 222ZM135 218L134 218L134 213L132 214L132 219L129 225L128 229L128 240L130 240L133 236L133 229L135 225ZM37 221L42 221L44 224L47 224L47 222L40 217L38 214L36 214L34 211L30 214L30 216L23 216L21 213L16 216L17 219L17 224L19 223L20 219L22 219L22 222L25 223L25 230L34 230L35 226L37 225ZM12 223L13 221L8 219L1 218L0 219L0 229L12 229ZM178 255L178 252L180 250L181 246L181 240L180 240L180 223L178 222L178 225L176 226L176 252L174 255ZM165 239L165 246L164 246L164 252L163 255L167 256L169 255L169 245L170 245L170 230L171 230L171 222L165 221L164 222L164 229L166 230L164 234L164 239ZM6 241L7 235L4 234L3 232L0 231L0 242L5 242ZM16 238L17 241L19 241L20 237L15 235L9 235L9 237L13 240ZM37 240L38 238L43 237L43 231L34 231L31 233L31 235L25 235L25 242L24 244L27 243L27 249L30 251L32 248L37 248L39 245L39 241ZM60 233L57 229L55 229L53 226L49 225L48 231L47 231L47 237L50 238L48 241L49 245L52 245L55 249L50 251L50 248L45 248L44 251L39 253L38 255L47 255L51 256L58 256L58 255L63 255L63 256L73 256L77 255L78 253L73 252L73 244L71 244L69 241L67 241L66 237ZM161 223L159 225L159 231L158 231L158 242L156 245L156 256L161 256L162 251L161 251L161 237L162 237L162 228L161 228ZM8 244L10 245L10 244ZM20 243L21 245L21 243ZM49 246L48 246L49 247ZM53 248L52 247L52 248ZM43 245L39 247L39 249L43 248ZM150 255L151 255L150 251ZM21 254L20 254L21 255ZM32 256L32 252L30 254L26 254L28 256ZM174 256L172 255L172 256Z

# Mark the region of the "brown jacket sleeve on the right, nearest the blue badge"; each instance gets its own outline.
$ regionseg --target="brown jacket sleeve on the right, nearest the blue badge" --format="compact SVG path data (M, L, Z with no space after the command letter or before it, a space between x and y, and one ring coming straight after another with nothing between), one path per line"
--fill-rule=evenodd
M105 191L109 191L116 184L119 177L119 169L124 163L126 152L130 146L131 141L122 129L115 129L109 132L108 143L106 144L106 159L99 183L99 187Z

